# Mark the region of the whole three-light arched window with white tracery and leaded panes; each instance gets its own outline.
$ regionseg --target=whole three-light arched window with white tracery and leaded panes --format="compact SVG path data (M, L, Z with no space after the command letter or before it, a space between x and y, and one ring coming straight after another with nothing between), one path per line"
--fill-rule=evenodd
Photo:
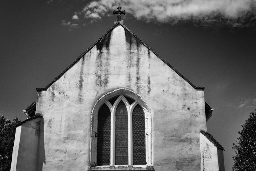
M127 95L110 97L102 102L97 116L94 165L147 164L146 117L137 100Z

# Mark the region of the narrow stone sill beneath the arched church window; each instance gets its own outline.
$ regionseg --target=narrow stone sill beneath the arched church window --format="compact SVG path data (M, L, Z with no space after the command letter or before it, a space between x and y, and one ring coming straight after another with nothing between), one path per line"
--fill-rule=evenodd
M105 170L105 171L112 171L112 170L123 170L123 171L129 171L129 170L148 170L148 171L154 171L153 166L134 166L134 165L124 165L124 166L95 166L95 167L88 167L89 171L93 170Z

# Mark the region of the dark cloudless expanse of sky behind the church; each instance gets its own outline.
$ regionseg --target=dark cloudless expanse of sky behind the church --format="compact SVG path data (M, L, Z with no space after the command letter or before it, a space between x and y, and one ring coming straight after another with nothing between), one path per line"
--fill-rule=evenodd
M116 17L63 25L87 1L0 1L0 115L12 120L36 100L43 88L89 48ZM214 108L208 132L225 148L231 170L232 143L256 108L256 29L205 27L191 22L171 25L146 22L128 12L124 24L195 86L205 87L205 101ZM83 23L85 23L83 25Z

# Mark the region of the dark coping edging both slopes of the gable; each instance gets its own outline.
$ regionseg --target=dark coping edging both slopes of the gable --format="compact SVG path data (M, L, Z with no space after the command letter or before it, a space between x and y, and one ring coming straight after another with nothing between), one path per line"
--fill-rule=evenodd
M179 73L174 67L172 67L165 59L163 59L160 55L158 55L152 48L150 48L147 44L145 44L144 41L142 41L138 36L136 36L132 31L130 31L125 25L122 25L121 23L117 22L115 23L105 34L103 34L92 46L90 46L84 53L82 53L75 61L68 66L60 75L58 75L50 84L48 84L45 88L36 88L37 92L44 91L48 87L50 87L54 82L56 82L69 68L71 68L77 61L79 61L89 50L91 50L99 41L101 41L110 31L112 31L117 25L120 25L124 27L132 36L134 36L137 40L141 42L144 46L146 46L150 51L152 51L159 59L161 59L166 65L168 65L170 68L174 70L178 75L180 75L183 79L186 80L192 87L195 89L204 89L204 87L196 87L194 84L192 84L186 77L184 77L181 73Z

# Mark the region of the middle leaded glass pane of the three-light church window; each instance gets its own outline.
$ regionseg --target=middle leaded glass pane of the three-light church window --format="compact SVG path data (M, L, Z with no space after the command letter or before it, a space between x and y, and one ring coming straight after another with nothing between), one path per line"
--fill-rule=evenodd
M123 101L116 108L115 164L128 164L128 114Z

